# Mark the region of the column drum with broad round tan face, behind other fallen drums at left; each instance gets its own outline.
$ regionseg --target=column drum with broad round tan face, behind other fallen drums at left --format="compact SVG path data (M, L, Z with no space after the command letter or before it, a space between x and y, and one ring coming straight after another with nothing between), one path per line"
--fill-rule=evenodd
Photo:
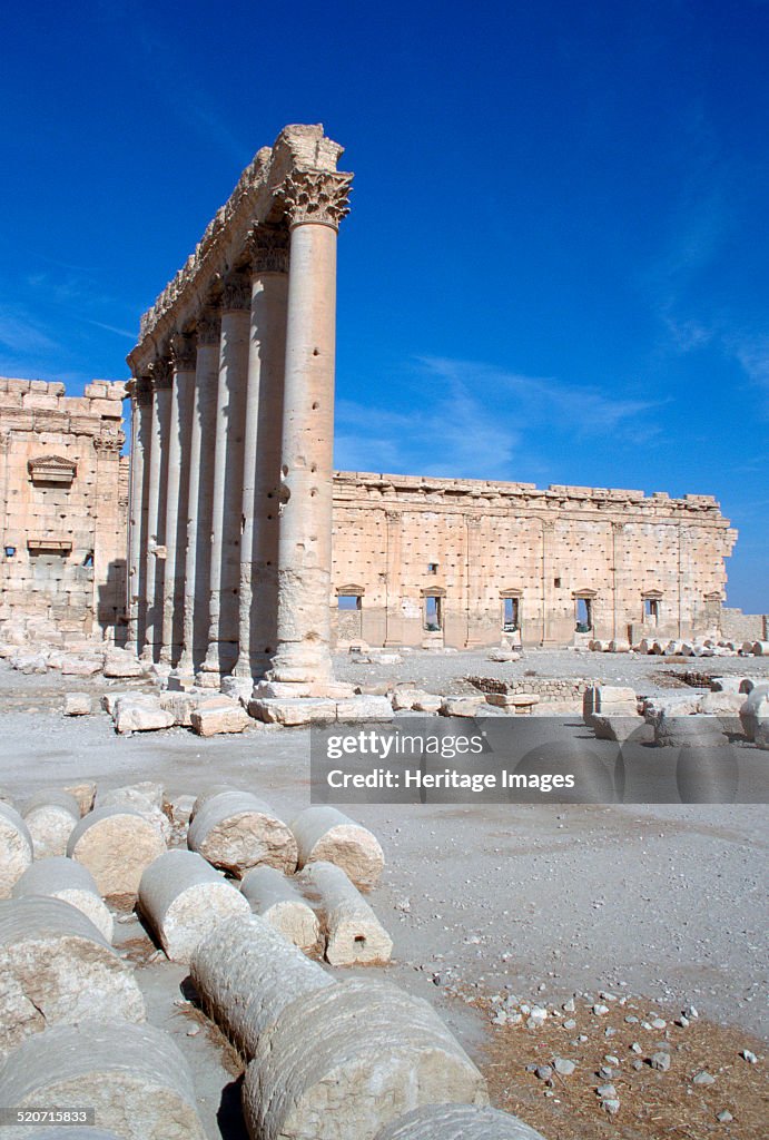
M165 850L157 828L132 807L98 807L69 836L67 855L91 872L101 895L130 902L146 868Z

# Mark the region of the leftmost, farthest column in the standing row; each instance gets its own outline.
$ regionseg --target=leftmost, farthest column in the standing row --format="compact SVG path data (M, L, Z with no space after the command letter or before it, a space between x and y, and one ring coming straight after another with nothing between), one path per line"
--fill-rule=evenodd
M147 475L145 456L149 442L152 389L146 376L131 381L131 474L129 482L128 641L139 653L144 646L145 557L147 553Z

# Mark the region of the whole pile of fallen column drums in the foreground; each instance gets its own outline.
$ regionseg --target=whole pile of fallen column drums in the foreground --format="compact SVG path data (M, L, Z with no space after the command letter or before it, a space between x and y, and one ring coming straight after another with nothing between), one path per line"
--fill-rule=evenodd
M205 1140L189 1066L112 945L134 906L239 1052L252 1140L537 1140L488 1107L430 1004L320 964L390 959L361 894L384 866L370 831L330 807L289 826L228 787L187 807L154 784L75 792L0 803L0 1140Z

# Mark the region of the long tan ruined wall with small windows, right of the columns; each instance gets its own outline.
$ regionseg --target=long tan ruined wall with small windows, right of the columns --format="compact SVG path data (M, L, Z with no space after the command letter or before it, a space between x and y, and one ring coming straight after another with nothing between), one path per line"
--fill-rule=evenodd
M370 645L493 645L506 597L507 634L530 645L715 632L735 539L706 495L337 472L338 641L354 640L354 617ZM360 612L337 595L360 596Z

